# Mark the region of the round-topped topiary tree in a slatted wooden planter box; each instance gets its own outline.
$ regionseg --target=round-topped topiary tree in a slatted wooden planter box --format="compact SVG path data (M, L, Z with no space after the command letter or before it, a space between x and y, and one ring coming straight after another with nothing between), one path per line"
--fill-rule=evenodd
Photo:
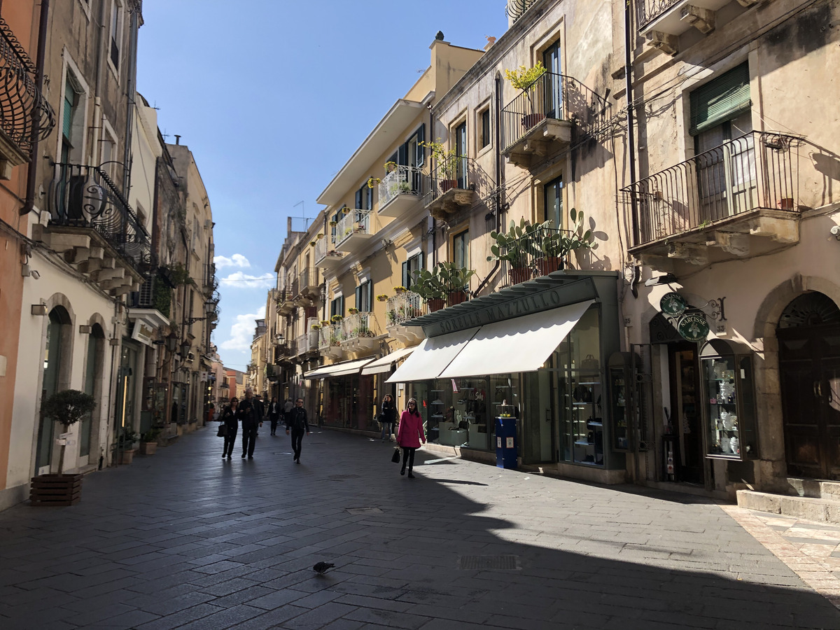
M61 423L64 433L97 406L90 394L79 390L56 391L41 405L41 415ZM81 500L82 475L64 475L66 438L60 438L58 473L32 478L29 501L34 506L71 506Z

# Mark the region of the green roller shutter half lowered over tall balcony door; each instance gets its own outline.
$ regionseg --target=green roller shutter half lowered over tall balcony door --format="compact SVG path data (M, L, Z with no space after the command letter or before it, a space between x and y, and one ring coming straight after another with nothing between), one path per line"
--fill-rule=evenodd
M691 135L700 134L749 109L749 66L742 64L691 92Z

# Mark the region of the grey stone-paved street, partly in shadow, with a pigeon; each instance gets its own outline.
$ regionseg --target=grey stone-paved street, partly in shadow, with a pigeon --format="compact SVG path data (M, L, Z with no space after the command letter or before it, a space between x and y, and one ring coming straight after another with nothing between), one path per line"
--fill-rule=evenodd
M0 628L840 628L806 554L837 559L831 529L423 450L408 480L344 433L301 465L285 436L221 449L205 428L88 475L76 506L0 512Z

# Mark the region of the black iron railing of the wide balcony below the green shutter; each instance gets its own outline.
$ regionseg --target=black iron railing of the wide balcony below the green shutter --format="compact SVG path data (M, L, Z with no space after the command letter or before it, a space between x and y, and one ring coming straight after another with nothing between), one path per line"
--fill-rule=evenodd
M643 245L762 208L798 212L802 139L752 132L622 188Z

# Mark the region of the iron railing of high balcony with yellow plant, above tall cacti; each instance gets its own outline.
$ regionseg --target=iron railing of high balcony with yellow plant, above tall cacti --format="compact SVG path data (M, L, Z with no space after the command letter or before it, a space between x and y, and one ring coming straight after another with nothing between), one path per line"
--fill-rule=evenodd
M609 122L609 108L577 79L546 72L501 110L502 153L545 118L574 122L582 138L596 136Z

